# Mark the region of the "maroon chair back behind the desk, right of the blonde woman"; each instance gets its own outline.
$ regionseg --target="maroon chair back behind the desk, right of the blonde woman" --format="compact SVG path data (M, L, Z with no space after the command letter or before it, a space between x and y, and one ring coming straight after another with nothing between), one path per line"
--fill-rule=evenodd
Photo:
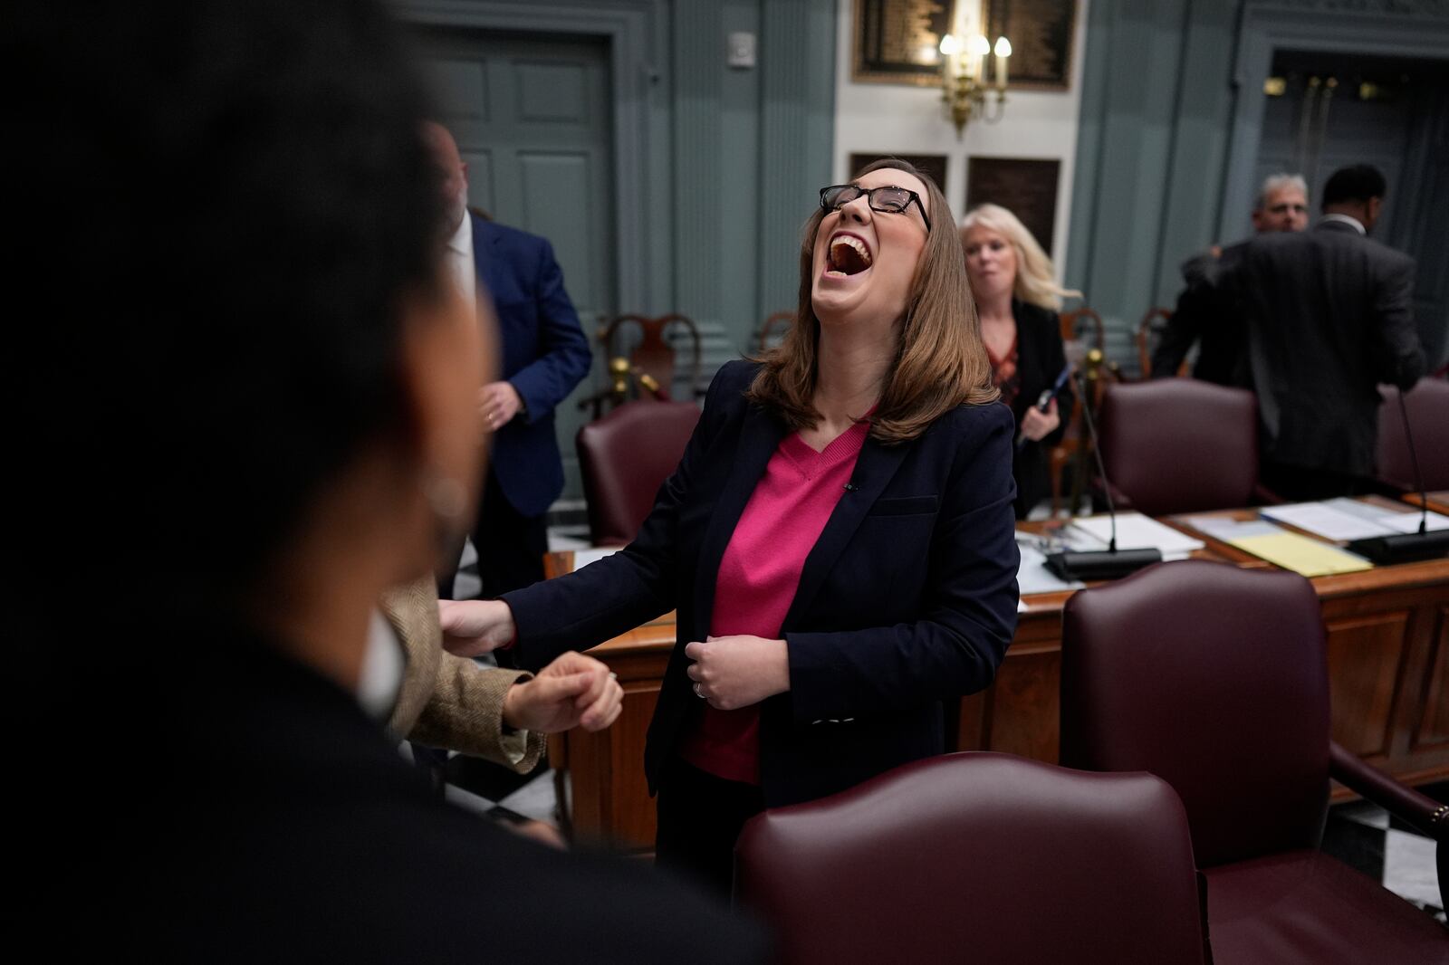
M1262 500L1258 400L1193 378L1108 384L1101 461L1119 509L1148 516L1235 509Z

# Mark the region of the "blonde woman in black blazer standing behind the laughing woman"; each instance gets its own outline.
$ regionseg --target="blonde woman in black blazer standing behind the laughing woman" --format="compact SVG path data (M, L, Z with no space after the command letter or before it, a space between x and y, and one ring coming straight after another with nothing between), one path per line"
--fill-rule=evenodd
M1024 519L1051 493L1046 454L1062 438L1071 416L1071 393L1037 409L1043 390L1066 365L1056 312L1062 297L1080 296L1056 284L1052 259L1026 225L998 204L981 204L961 222L966 275L981 314L981 341L991 362L991 381L1011 407L1017 446L1016 516Z

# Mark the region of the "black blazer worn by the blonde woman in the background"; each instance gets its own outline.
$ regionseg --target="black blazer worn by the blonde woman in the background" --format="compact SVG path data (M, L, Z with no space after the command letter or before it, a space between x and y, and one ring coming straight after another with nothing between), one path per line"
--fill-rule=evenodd
M1011 298L1011 319L1016 322L1016 371L1022 388L1011 400L1011 416L1022 425L1022 416L1036 404L1042 390L1051 388L1066 367L1062 346L1061 319L1051 309ZM1062 440L1072 417L1072 393L1064 388L1056 397L1056 414L1062 423L1039 442L1026 440L1013 452L1011 477L1016 480L1016 517L1026 519L1032 507L1052 493L1046 454Z

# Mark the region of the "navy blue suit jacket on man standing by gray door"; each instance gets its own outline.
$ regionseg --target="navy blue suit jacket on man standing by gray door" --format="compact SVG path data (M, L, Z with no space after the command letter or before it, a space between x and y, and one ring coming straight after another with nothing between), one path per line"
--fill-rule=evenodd
M564 491L554 409L588 374L591 352L548 239L472 212L472 258L493 297L503 378L527 410L493 436L493 472L523 516L539 516Z

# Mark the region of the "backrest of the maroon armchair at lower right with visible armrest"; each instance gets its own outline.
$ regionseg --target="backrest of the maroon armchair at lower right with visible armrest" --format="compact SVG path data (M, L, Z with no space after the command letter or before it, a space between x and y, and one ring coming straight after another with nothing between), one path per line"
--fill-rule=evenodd
M1198 866L1317 848L1329 682L1303 577L1185 559L1082 590L1061 687L1062 765L1164 778Z

